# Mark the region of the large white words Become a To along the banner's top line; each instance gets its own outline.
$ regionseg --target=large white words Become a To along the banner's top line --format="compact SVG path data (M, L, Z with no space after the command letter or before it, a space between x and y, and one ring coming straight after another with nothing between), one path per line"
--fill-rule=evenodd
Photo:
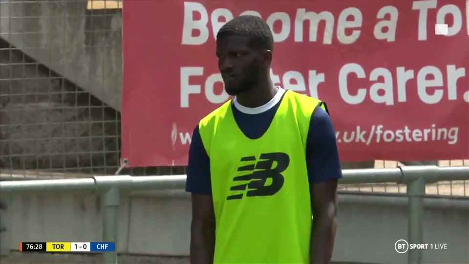
M451 18L453 23L451 26L448 26L446 36L454 36L464 30L465 22L469 25L468 1L466 3L466 14L454 4L445 4L437 7L437 3L437 0L412 2L412 10L415 12L412 15L419 18L418 24L414 26L418 27L418 40L420 41L427 40L427 25L429 21L436 24L444 24L447 17ZM272 29L274 42L293 39L295 42L332 44L333 40L337 40L341 44L353 44L359 39L363 27L362 10L357 7L347 7L342 9L338 15L334 15L330 11L321 10L318 12L316 9L319 8L313 5L308 9L292 8L290 10L295 11L289 10L288 13L273 12L266 14L267 12L265 11L249 8L234 14L230 9L225 7L215 8L213 11L210 11L202 3L185 1L181 44L205 44L209 40L210 35L215 39L216 33L226 22L232 20L235 16L242 15L253 15L263 18ZM373 35L377 40L395 41L398 17L400 17L399 12L405 12L405 10L398 10L392 5L386 5L378 10L376 23L373 27ZM279 26L275 27L275 24ZM324 24L323 30L322 24ZM469 34L469 26L467 28ZM309 36L303 36L304 32L308 32Z

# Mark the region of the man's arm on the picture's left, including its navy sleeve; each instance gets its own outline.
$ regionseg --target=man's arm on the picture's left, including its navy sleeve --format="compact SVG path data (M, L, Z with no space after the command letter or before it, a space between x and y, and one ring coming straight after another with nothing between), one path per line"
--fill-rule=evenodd
M213 264L215 214L210 158L205 151L198 127L192 132L186 191L192 193L191 264Z

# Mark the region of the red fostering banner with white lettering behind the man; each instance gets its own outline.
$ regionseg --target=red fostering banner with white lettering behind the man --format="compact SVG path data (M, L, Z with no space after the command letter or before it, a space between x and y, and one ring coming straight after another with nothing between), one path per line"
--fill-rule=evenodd
M229 99L215 35L272 28L274 83L325 101L342 161L469 158L467 0L125 0L122 158L185 165L200 118Z

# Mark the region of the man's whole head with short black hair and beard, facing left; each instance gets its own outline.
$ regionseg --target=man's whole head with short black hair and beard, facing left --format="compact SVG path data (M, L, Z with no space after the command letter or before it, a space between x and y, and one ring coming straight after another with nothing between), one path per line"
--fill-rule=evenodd
M240 16L223 25L216 35L216 56L225 90L247 92L270 78L274 38L261 18Z

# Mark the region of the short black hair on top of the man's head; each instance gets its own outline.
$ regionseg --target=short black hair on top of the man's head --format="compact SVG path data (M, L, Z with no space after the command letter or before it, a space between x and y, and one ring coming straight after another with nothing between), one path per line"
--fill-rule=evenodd
M256 16L239 16L224 24L216 34L216 39L226 36L246 36L252 47L274 50L274 37L269 25Z

